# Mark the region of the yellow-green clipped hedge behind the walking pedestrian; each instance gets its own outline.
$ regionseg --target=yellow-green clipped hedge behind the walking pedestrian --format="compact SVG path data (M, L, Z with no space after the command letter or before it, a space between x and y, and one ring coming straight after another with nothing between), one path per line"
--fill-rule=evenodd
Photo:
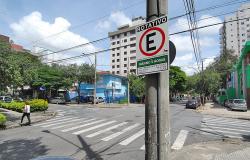
M33 99L28 101L30 104L30 111L45 111L48 109L48 102L43 99ZM24 102L11 102L11 103L0 103L0 106L5 109L9 109L16 112L23 112L25 103Z

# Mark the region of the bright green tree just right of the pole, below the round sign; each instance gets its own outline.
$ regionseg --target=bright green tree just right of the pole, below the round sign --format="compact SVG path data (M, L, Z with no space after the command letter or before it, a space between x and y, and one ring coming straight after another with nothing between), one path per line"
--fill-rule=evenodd
M169 71L169 90L171 95L182 93L186 90L187 76L178 66L170 66Z

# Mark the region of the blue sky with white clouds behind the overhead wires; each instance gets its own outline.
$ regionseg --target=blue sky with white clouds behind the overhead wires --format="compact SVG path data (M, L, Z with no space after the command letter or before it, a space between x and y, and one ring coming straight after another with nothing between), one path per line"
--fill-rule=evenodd
M195 0L196 10L233 0ZM237 1L237 0L234 0ZM242 2L243 0L238 0ZM197 13L198 22L204 26L224 21L218 14L237 10L241 3ZM168 16L185 13L182 0L169 0ZM79 44L108 37L108 32L131 23L132 18L146 16L146 0L0 0L0 34L9 36L15 43L33 50L34 46L58 51ZM214 26L199 30L201 56L207 66L220 53L219 28ZM168 23L169 33L188 29L186 17ZM189 33L170 36L177 53L173 65L180 66L188 75L198 72ZM47 61L88 54L108 49L109 39L91 43L70 51L49 56ZM206 58L206 59L205 59ZM61 64L90 63L93 57L81 57ZM110 69L110 53L97 55L98 70Z

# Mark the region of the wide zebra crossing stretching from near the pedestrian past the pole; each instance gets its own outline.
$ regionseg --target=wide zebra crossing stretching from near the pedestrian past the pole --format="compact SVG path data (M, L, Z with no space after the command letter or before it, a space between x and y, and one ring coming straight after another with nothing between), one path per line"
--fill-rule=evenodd
M143 124L133 122L119 122L112 118L98 117L77 117L66 114L63 110L58 110L58 115L38 124L35 127L56 130L65 134L81 135L86 138L99 139L102 143L117 141L117 145L129 146L135 143L139 144L138 150L144 151L145 144L142 141L145 134ZM67 112L68 113L68 112ZM178 136L176 141L178 147L172 149L181 149L187 138L188 131L181 131L185 136ZM176 145L176 144L175 144Z

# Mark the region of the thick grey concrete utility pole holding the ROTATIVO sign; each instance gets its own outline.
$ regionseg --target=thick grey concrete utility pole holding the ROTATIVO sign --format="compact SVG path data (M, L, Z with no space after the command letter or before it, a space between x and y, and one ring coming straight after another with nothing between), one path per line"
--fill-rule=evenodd
M147 21L167 15L167 4L168 0L147 0ZM169 50L169 46L165 47ZM168 160L169 120L169 71L149 74L146 76L145 103L146 160Z

